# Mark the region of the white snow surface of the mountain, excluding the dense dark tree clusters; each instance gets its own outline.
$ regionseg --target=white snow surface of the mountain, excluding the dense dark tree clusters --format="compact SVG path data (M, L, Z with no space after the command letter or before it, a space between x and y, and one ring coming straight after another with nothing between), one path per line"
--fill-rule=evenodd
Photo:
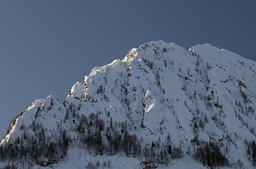
M21 138L22 127L29 137L36 138L31 127L33 121L44 127L48 141L61 138L56 132L58 123L62 123L71 139L78 139L73 121L63 123L66 110L72 107L86 116L98 113L105 121L105 130L111 117L116 122L127 121L134 126L132 133L143 138L143 145L164 141L169 133L172 144L181 145L183 157L168 164L154 164L157 169L207 168L192 153L186 153L195 135L200 140L223 145L221 152L230 163L240 159L244 168L253 169L244 139L256 140L256 133L251 132L256 127L255 96L256 62L209 44L195 45L187 51L162 40L148 42L131 49L122 60L93 68L82 82L71 88L64 104L54 96L34 101L16 119L0 145ZM208 123L195 133L192 126L205 118ZM125 154L96 155L70 146L62 161L47 167L34 163L32 169L81 169L90 161L99 161L101 168L104 161L110 161L113 169L146 166L140 159Z

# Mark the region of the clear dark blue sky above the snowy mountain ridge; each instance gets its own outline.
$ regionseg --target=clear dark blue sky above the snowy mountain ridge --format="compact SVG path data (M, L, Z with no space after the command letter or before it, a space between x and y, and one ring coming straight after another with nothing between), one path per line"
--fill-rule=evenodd
M32 101L162 39L210 43L256 61L255 0L0 1L0 138Z

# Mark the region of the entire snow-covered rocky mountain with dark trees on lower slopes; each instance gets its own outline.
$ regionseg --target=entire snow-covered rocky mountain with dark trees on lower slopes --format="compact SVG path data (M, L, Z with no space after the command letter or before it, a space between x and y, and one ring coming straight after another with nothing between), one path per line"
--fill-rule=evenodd
M0 143L0 167L256 166L256 62L163 41L95 67L64 103L34 101Z

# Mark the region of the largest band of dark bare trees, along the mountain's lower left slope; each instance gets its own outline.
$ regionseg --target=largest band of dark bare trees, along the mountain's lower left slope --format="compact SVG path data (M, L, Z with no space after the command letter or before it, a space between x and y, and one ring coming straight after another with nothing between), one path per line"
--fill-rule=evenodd
M77 133L71 137L69 131L62 127L67 122L75 124L69 130ZM109 118L108 127L99 118L98 113L83 115L76 113L76 109L70 107L65 113L64 121L57 124L56 135L46 134L47 128L35 120L26 126L23 124L20 130L23 135L12 138L6 144L0 146L0 160L29 158L40 166L49 166L65 158L70 146L79 146L86 151L101 155L125 154L128 157L138 157L141 161L169 163L171 159L183 157L181 147L175 147L170 137L166 141L152 141L144 144L143 138L133 134L134 124L127 121L116 122ZM29 128L31 132L25 130ZM103 164L102 164L103 165ZM88 164L87 168L97 168L96 164Z

